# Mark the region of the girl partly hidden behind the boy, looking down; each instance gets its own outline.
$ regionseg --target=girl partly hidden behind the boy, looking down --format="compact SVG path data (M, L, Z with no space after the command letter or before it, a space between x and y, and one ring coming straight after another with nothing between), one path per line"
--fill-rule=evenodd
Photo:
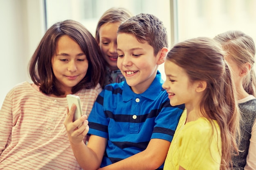
M95 39L99 44L106 65L105 84L120 83L125 78L117 68L117 28L121 22L131 17L124 8L108 9L97 24Z

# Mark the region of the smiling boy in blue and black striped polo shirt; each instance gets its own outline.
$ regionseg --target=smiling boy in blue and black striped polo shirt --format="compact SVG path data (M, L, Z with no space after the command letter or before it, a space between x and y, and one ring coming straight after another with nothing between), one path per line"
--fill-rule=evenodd
M117 66L126 80L105 87L88 121L83 116L72 122L75 107L65 120L74 155L83 169L163 168L184 109L184 105L172 107L162 89L157 68L164 63L167 47L166 28L154 15L141 13L120 24ZM86 146L83 137L87 134Z

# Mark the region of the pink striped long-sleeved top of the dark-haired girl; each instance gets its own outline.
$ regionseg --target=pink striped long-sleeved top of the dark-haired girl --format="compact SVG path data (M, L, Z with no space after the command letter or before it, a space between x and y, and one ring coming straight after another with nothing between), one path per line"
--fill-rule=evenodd
M82 89L83 113L89 115L101 92ZM28 82L16 85L0 110L0 169L80 170L64 126L66 98L47 96Z

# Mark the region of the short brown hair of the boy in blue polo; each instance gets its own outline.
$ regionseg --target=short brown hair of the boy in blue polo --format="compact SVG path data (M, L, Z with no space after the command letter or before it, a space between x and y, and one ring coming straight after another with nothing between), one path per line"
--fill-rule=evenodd
M119 25L117 33L134 35L141 43L147 41L156 55L162 48L168 48L166 28L154 15L141 13L130 17Z

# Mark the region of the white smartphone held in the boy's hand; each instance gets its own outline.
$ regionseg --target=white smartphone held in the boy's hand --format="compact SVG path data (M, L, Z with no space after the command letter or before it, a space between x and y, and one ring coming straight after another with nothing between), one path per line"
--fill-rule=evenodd
M67 105L68 105L69 110L71 109L73 104L76 105L76 111L75 111L74 117L73 117L73 122L74 122L75 120L79 119L83 115L82 107L81 107L79 96L76 96L74 94L68 94L67 95Z

